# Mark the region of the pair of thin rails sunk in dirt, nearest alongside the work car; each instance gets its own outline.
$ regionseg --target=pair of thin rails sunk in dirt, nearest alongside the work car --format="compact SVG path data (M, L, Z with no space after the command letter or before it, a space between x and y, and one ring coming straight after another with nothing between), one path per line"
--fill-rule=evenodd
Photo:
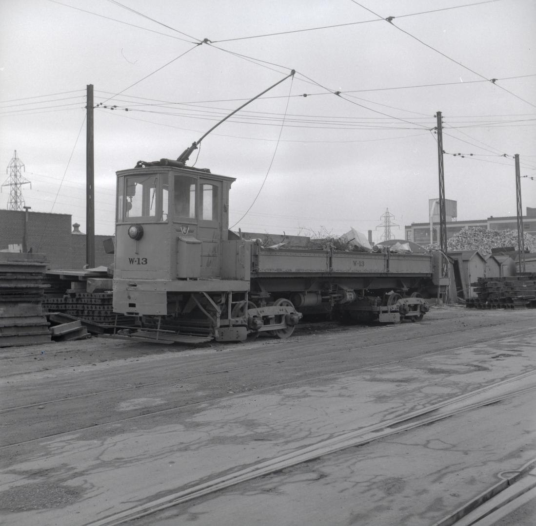
M512 323L514 323L514 322L512 322ZM463 331L443 332L443 333L440 334L440 336L445 337L445 336L449 336L449 334L455 334L455 333L459 335L460 332L463 332ZM466 332L474 332L474 329L467 329ZM531 334L532 332L533 332L532 327L531 327L531 329L520 329L517 332L510 334L508 337L502 338L502 339L505 340L505 339L511 338L512 335L513 336L524 336L525 334ZM408 345L411 345L412 342L416 342L416 341L422 342L422 341L426 341L426 340L437 340L438 336L439 336L438 334L434 334L434 336L422 336L422 337L416 337L416 338L408 338L408 339L404 340L404 343L408 344ZM439 350L427 353L427 356L433 356L435 354L444 353L445 349L448 349L450 351L454 351L454 350L457 350L457 349L468 348L468 347L471 347L471 346L477 345L477 344L486 344L488 342L497 342L497 341L501 341L502 339L501 338L482 339L482 338L477 337L476 341L472 342L471 344L464 345L464 346L449 346L449 345L442 346ZM308 344L303 344L303 345L304 345L304 347L307 347ZM381 344L367 345L366 347L358 346L358 347L355 347L355 349L385 347L385 346L390 346L390 345L400 345L400 342L399 341L397 341L397 342L386 342L386 343L381 343ZM300 346L299 342L293 342L293 347L299 347L299 346ZM316 354L310 354L310 355L300 355L300 356L295 356L295 357L287 355L285 357L285 361L288 362L288 361L293 361L294 360L294 361L302 362L304 359L307 360L308 358L315 357L317 359L318 356L326 356L326 355L331 356L331 355L334 355L334 354L347 353L347 352L348 352L348 349L344 348L342 350L340 350L340 349L329 350L328 352L325 352L325 353L316 353ZM366 365L362 365L360 367L345 368L345 369L341 369L341 370L339 370L337 372L330 372L330 373L326 373L326 374L323 374L323 375L309 376L309 377L307 377L307 379L304 379L304 380L300 379L300 380L294 380L292 382L282 382L282 383L278 383L278 384L270 384L270 385L260 387L260 388L257 388L255 390L251 390L251 391L248 391L248 392L251 393L251 394L256 393L256 392L257 393L262 393L262 392L264 392L266 390L274 390L274 389L280 389L280 388L286 388L286 387L290 387L290 386L299 385L302 382L311 382L311 381L317 382L319 380L327 380L327 379L330 379L330 378L333 378L333 377L337 377L339 375L345 375L347 373L356 373L356 372L363 371L363 370L368 370L368 369L381 369L382 367L385 367L386 365L390 365L390 364L393 364L393 363L403 363L403 362L407 363L407 362L411 362L412 360L415 360L415 359L420 359L420 357L421 357L421 354L417 354L415 356L410 356L410 357L406 357L406 358L403 358L403 359L395 359L395 360L384 361L384 362L381 362L381 363L376 363L374 365L366 364ZM205 361L206 359L207 359L207 357L203 356L199 360L200 361ZM243 366L240 366L240 367L225 368L225 369L214 369L214 370L204 371L202 373L196 373L194 375L189 375L189 376L185 375L185 376L179 376L179 377L173 377L173 378L166 378L165 380L159 380L157 382L147 382L147 383L142 383L142 384L118 387L118 388L114 388L114 389L105 389L105 390L100 390L100 391L94 391L94 392L91 392L91 393L79 394L79 395L75 395L75 396L71 396L71 397L63 397L63 398L56 398L56 399L49 399L49 400L39 400L38 402L34 402L34 403L29 403L29 404L20 405L20 406L11 406L11 407L4 408L4 409L0 410L0 415L13 414L13 413L16 413L17 411L24 411L24 410L32 409L32 408L40 408L40 409L42 409L43 407L50 406L50 405L55 405L55 407L54 407L55 412L58 413L58 412L62 411L62 408L61 408L62 405L69 405L69 403L74 401L74 400L84 400L84 399L94 399L94 398L98 398L98 397L107 397L108 395L113 394L113 393L135 392L135 391L143 390L143 388L150 388L150 387L155 387L155 386L165 386L165 385L174 384L174 383L184 383L184 382L188 382L188 380L191 380L191 379L210 376L210 375L218 375L220 373L228 374L230 372L244 372L244 371L247 371L247 370L250 370L250 369L254 369L254 368L256 369L256 368L259 368L259 367L264 367L264 366L270 365L271 363L272 362L260 362L260 363L255 362L255 363L251 363L249 365L243 365ZM115 374L115 373L113 373L113 374ZM180 410L194 409L196 407L199 407L202 404L206 404L207 402L209 402L209 403L210 402L215 402L215 401L218 401L220 399L221 399L221 396L204 397L202 400L196 400L196 401L188 402L188 403L184 403L184 404L173 405L173 407L166 407L166 408L152 409L152 410L145 408L142 411L142 413L137 414L137 415L126 416L126 417L123 417L123 418L116 418L116 419L113 419L113 420L106 420L106 421L100 422L100 423L92 422L89 425L71 427L68 430L64 430L64 431L61 431L61 432L49 433L49 434L41 434L38 437L34 437L34 438L31 438L31 439L28 439L28 440L21 440L21 441L13 442L13 443L10 443L10 444L3 444L2 446L0 446L0 451L2 451L3 449L6 449L6 448L13 447L13 446L30 444L32 442L35 442L35 441L41 440L41 439L50 439L50 438L61 437L62 435L68 434L68 433L84 431L84 430L87 430L87 429L96 429L96 428L99 428L99 427L102 427L102 426L108 426L108 425L113 425L113 424L121 424L123 422L128 422L128 421L132 421L132 420L139 420L139 419L148 418L148 417L156 416L156 415L163 415L163 414L166 414L166 413L172 413L173 411L176 411L176 410L179 410L179 409Z

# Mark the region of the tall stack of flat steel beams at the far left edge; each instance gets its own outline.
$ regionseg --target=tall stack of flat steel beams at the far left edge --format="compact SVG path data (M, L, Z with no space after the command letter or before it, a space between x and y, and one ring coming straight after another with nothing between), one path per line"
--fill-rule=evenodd
M44 254L0 252L0 347L50 341L42 302Z

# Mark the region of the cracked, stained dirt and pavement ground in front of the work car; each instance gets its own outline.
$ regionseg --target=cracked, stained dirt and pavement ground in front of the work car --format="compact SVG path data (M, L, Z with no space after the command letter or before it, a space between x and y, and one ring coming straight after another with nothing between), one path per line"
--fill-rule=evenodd
M287 340L0 349L0 524L119 523L317 448L312 464L136 524L314 524L324 510L318 524L431 525L536 456L535 321L534 310L433 307L421 323L303 325ZM492 388L509 398L322 449Z

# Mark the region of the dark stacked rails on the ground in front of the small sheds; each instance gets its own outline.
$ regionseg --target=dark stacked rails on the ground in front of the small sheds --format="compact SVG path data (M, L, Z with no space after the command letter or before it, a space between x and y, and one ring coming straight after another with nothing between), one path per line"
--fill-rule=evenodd
M477 309L516 309L536 307L536 274L503 278L478 278L471 284L478 298L467 298L466 307Z

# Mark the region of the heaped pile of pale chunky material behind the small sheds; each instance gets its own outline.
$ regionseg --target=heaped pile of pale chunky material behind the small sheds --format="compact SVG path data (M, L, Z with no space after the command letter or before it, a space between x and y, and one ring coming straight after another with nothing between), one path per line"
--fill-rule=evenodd
M530 234L523 236L525 250L536 252L536 238ZM516 247L517 231L515 230L487 230L486 228L465 227L453 235L447 242L450 251L478 250L486 256L492 253L493 248Z

